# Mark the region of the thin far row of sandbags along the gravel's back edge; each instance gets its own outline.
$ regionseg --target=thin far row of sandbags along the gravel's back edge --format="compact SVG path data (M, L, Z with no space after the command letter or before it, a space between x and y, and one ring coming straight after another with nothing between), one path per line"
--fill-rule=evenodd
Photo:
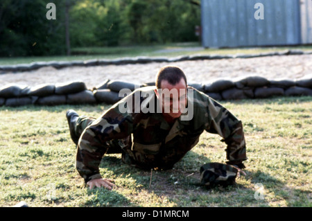
M149 58L149 57L135 57L135 58L119 58L119 59L94 59L86 61L51 61L51 62L32 62L30 64L15 64L0 66L0 73L6 72L20 72L33 71L42 67L54 67L55 69L62 69L64 67L90 67L98 65L121 65L121 64L147 64L150 62L181 62L187 60L214 60L214 59L228 59L228 58L258 58L264 56L276 55L303 55L312 54L312 51L300 50L285 50L279 52L257 53L257 54L236 54L236 55L182 55L175 58Z

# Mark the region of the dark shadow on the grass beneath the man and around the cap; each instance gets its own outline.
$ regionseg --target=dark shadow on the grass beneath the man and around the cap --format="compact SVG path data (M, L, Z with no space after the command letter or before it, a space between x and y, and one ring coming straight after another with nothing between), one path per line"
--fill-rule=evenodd
M140 200L136 202L123 195L123 188L127 189L127 193L132 191L130 195L138 198L141 192L157 195L159 201L149 203L144 202L146 196L141 196L143 204L152 206L166 206L161 202L164 199L173 206L182 207L272 206L272 200L276 198L287 201L286 192L289 190L285 183L259 170L251 172L246 169L247 175L237 178L234 186L208 189L200 184L199 168L209 162L209 158L191 151L171 170L146 171L125 165L116 155L106 155L101 168L117 177L119 191L104 188L88 191L92 199L82 206L142 206ZM245 184L244 181L251 184ZM272 195L267 195L268 192L275 195L273 199Z

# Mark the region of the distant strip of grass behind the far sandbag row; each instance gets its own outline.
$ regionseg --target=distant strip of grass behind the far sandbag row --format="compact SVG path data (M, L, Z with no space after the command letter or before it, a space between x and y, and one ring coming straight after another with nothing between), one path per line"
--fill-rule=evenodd
M252 54L267 53L284 50L311 51L312 46L275 46L259 48L203 48L198 42L174 43L149 46L112 46L112 47L88 47L72 48L71 56L46 56L26 58L0 58L0 65L28 64L31 62L73 61L92 59L115 59L136 56L168 57L173 58L180 55L208 55L208 54Z

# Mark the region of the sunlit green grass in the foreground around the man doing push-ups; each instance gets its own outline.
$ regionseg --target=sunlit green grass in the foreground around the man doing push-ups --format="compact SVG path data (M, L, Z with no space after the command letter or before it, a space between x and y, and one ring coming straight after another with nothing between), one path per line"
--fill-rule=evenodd
M74 166L65 112L100 116L110 105L0 107L0 206L23 200L28 206L311 207L312 98L221 103L243 121L247 175L236 186L212 190L199 185L199 168L224 162L225 146L215 134L202 134L173 170L153 171L151 180L150 171L121 163L119 154L106 155L101 174L116 188L90 191ZM260 193L264 200L255 199Z

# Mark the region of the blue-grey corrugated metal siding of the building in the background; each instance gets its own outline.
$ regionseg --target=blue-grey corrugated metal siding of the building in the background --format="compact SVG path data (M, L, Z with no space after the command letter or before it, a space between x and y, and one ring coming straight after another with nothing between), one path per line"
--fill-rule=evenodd
M256 3L263 3L263 20L254 19ZM202 0L201 4L205 47L301 43L299 0Z

